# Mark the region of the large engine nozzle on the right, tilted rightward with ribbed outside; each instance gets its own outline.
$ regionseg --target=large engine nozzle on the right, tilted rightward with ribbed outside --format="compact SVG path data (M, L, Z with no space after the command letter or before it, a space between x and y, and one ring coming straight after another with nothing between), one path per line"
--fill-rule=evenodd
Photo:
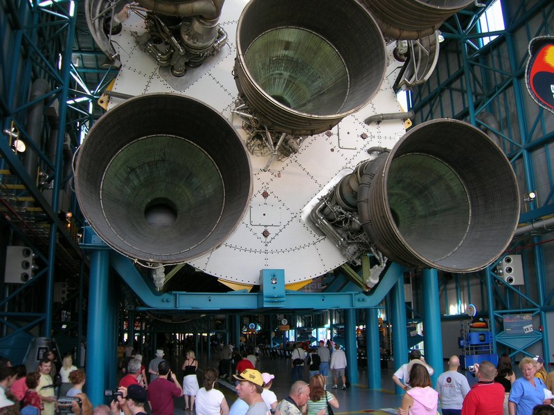
M418 125L359 180L361 225L401 264L472 272L506 250L519 221L510 162L483 131L456 120Z

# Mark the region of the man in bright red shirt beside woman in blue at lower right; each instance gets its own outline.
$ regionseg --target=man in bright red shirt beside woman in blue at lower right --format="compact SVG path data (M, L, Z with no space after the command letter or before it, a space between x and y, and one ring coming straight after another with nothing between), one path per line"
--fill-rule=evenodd
M462 415L502 415L504 412L504 387L494 382L497 368L491 362L483 360L475 365L475 374L479 383L465 396Z

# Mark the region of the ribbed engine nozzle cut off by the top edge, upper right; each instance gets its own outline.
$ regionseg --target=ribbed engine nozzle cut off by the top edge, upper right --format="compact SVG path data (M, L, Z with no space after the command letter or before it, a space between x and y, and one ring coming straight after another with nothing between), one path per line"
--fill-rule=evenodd
M438 30L454 13L474 0L363 0L384 37L420 39Z

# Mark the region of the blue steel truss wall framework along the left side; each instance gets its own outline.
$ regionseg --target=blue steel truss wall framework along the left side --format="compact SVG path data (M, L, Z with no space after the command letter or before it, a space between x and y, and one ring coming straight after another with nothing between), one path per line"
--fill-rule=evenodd
M10 339L36 332L36 326L43 336L53 335L57 310L53 304L55 273L75 278L82 274L81 264L86 263L77 243L75 222L60 220L58 214L60 190L68 180L62 172L61 149L66 133L72 132L76 112L75 107L68 104L67 97L82 95L82 92L71 89L72 73L75 72L71 53L77 4L76 0L7 0L3 1L0 15L0 37L5 46L0 52L0 124L4 131L0 137L1 217L14 237L33 248L42 264L40 272L29 282L6 288L6 296L0 301L3 310L0 353L8 356L6 350L11 349ZM38 97L29 98L36 80L44 80L49 89ZM53 136L58 151L53 160L26 131L29 109L42 105L45 109L57 109L57 121L46 122L45 114L41 131L42 138L57 131ZM11 143L16 138L26 144L27 154L37 155L39 170L44 172L42 180L48 183L52 192L50 199L39 188L35 172L24 167L24 154L12 150ZM44 284L44 303L27 308L26 312L11 311L17 308L17 298L37 283ZM80 322L78 326L81 327Z

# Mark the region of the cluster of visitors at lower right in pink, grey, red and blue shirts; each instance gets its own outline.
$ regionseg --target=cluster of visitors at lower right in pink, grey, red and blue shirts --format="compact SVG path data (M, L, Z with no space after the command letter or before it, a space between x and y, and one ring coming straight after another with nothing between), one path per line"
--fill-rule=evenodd
M518 379L507 355L499 357L497 366L487 360L472 365L469 369L476 383L471 388L467 378L458 372L458 356L452 356L448 370L438 377L436 389L431 383L434 369L425 363L421 353L411 351L409 359L393 375L393 381L406 391L398 415L436 415L438 402L443 415L554 414L554 396L544 382L550 375L544 370L541 356L522 358L519 367L523 376ZM554 381L554 375L551 379Z

